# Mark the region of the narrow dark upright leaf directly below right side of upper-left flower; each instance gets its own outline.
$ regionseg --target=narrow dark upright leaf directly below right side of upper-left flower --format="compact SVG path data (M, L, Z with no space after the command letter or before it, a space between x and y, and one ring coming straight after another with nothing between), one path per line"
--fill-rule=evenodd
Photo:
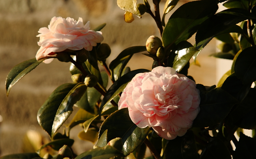
M98 67L98 60L96 56L96 49L93 47L92 51L89 51L89 57L85 63L91 74L95 75L98 79L98 83L103 84L102 77L100 75L100 69Z

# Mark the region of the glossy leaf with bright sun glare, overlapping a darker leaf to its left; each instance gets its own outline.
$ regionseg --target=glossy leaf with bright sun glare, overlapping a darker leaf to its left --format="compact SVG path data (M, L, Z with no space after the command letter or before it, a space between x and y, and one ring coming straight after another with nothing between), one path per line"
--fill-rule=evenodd
M73 105L81 99L86 89L87 86L84 83L78 83L63 99L52 124L52 137L73 112Z

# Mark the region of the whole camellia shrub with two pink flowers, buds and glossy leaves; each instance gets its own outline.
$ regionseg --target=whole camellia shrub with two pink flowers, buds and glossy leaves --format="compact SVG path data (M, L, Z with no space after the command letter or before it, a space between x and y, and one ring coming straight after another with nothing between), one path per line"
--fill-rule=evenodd
M150 14L161 37L152 35L145 46L124 49L109 64L111 49L101 43L104 33L100 32L106 24L90 30L82 18L54 17L48 28L39 29L36 58L11 69L7 95L20 78L54 58L70 63L74 82L56 88L38 110L37 120L50 143L35 153L1 159L143 159L147 147L152 154L148 159L256 158L256 88L251 87L256 81L256 0L187 2L165 23L178 1L167 0L160 17L160 0L152 0L154 6L148 0L144 4L117 0L126 11L126 22ZM227 9L216 13L221 2ZM193 34L196 43L191 44L187 40ZM189 61L196 62L213 38L222 43L221 52L212 56L233 60L233 65L217 86L196 84L197 79L187 75ZM154 60L152 70L126 67L133 54L143 51ZM100 72L98 64L106 71ZM107 90L108 79L112 85ZM57 131L72 107L80 109L61 134ZM74 140L69 132L76 125L84 128L80 137L97 141L82 154L71 148ZM253 137L245 136L243 129L251 129ZM41 154L49 147L56 153Z

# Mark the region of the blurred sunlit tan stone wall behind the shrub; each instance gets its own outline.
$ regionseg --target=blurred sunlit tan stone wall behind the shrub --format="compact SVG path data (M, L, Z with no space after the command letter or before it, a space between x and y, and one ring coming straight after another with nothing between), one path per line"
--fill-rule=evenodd
M141 2L143 0L138 0L138 3ZM161 10L165 2L161 1ZM178 6L185 2L181 0ZM35 58L39 49L39 38L36 37L39 28L47 27L53 16L75 20L82 17L84 24L91 22L91 29L107 23L102 34L103 42L108 43L112 50L107 61L109 64L123 49L145 45L151 35L160 36L149 14L141 19L134 16L132 23L125 23L123 14L116 0L0 0L0 115L3 117L0 123L0 156L24 151L22 142L28 130L37 130L47 136L37 123L37 111L56 87L72 82L69 63L54 60L50 64L42 63L20 79L6 97L5 79L9 70L22 61ZM195 41L191 40L191 43ZM200 53L198 61L201 67L192 65L189 69L189 75L197 83L216 84L213 76L215 59L208 57L213 52L214 41ZM147 56L135 54L128 66L132 70L151 69L152 62ZM71 131L72 138L76 138L77 132L82 130L80 127L75 129ZM78 154L93 145L79 139L75 143L74 149Z

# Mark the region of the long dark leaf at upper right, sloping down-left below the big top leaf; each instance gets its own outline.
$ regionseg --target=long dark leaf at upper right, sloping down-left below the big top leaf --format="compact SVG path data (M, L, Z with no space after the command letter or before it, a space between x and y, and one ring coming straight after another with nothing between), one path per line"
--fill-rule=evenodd
M198 45L199 42L212 38L239 22L255 18L252 13L241 8L231 8L221 11L200 25L196 34L196 43Z

